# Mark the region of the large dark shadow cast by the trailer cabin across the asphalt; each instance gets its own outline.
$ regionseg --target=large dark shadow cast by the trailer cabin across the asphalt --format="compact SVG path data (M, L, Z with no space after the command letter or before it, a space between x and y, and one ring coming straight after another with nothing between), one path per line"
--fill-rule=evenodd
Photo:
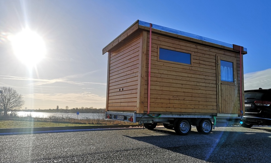
M270 132L269 129L260 130ZM154 134L164 135L126 137L207 162L268 162L271 160L271 134L269 133L212 131L209 135L203 135L197 131L191 131L187 136L179 136L174 130L153 129L152 131Z

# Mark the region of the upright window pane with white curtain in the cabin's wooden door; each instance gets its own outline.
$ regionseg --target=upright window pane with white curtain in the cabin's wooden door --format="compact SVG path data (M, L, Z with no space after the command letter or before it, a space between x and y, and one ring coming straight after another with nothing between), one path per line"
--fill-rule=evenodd
M233 82L233 63L221 60L220 65L221 81Z

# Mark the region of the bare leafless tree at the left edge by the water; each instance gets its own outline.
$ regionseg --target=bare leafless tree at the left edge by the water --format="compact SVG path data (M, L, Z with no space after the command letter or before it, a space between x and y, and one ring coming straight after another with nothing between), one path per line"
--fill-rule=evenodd
M0 107L3 108L4 116L7 116L7 112L12 109L20 109L24 103L22 95L19 95L15 89L0 87Z

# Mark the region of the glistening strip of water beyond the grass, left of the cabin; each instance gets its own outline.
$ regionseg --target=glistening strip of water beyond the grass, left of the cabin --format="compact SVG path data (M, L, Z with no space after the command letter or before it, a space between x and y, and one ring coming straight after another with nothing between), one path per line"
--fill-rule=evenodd
M60 118L73 118L73 119L103 119L104 114L98 113L48 113L48 112L25 112L25 111L18 111L18 116L26 117L31 114L34 118L50 118L51 116L56 116Z

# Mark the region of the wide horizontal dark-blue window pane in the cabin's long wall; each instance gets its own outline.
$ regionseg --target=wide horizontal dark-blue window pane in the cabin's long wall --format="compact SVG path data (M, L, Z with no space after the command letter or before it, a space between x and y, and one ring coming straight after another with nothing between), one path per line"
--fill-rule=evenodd
M159 48L159 59L191 64L191 54Z

